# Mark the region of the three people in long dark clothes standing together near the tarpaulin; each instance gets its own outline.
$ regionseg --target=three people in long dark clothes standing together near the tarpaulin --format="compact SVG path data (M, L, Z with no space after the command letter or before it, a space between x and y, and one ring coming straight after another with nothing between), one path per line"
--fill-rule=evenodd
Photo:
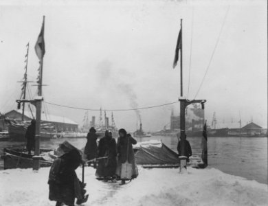
M138 175L132 146L137 144L137 141L130 134L127 134L123 128L118 133L117 143L112 133L107 130L104 137L97 144L98 135L96 134L96 129L90 128L84 153L89 165L93 163L93 167L97 169L97 179L103 179L104 181L117 181L120 179L121 183L124 184L126 180L134 179ZM98 160L98 167L96 160ZM131 168L131 170L127 171L129 177L124 175L124 172L126 172L124 171L124 163L128 163L129 168Z

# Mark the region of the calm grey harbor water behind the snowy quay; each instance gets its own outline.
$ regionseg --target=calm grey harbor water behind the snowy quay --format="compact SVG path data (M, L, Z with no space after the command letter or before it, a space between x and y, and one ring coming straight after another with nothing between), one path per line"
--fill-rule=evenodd
M177 150L177 137L152 136L137 138L137 141L150 139L161 140L172 150ZM187 139L193 155L201 155L201 137ZM41 148L54 149L65 140L77 148L83 148L87 142L86 138L52 139L41 141ZM23 147L25 143L0 142L1 151L10 146ZM208 163L210 168L267 184L267 137L208 137ZM0 161L0 167L3 169L3 161Z

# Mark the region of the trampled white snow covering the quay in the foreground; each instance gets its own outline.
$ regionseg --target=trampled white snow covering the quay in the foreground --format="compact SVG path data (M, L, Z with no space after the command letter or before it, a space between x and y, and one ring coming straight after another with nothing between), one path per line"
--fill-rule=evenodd
M46 206L49 168L0 171L0 205ZM81 177L82 169L76 170ZM85 168L89 201L84 205L267 205L268 185L225 174L214 168L179 169L139 168L131 183L97 181L93 168Z

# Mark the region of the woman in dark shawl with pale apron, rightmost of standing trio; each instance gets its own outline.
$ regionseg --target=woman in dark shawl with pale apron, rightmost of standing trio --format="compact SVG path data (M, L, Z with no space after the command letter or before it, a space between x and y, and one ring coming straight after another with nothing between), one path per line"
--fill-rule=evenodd
M137 165L135 163L135 156L133 151L133 144L137 144L137 141L131 137L130 134L126 134L126 130L123 128L118 131L120 137L118 137L117 151L118 151L118 166L116 168L116 174L118 178L122 180L122 184L126 179L122 179L121 170L122 163L128 161L132 165L131 179L134 179L138 175ZM126 158L127 157L127 158Z

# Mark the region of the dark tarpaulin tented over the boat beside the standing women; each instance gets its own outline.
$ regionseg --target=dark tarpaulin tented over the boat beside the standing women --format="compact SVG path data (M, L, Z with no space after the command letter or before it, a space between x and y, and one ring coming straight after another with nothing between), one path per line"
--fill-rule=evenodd
M179 158L176 152L170 150L165 144L161 146L140 146L135 152L135 160L138 165L164 165L177 164Z

